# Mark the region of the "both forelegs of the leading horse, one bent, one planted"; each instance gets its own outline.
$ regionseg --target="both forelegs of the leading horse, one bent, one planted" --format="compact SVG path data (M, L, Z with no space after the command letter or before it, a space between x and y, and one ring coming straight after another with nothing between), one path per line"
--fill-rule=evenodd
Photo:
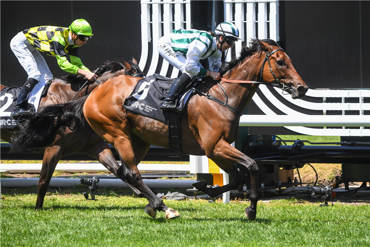
M259 173L257 163L253 159L249 158L248 156L237 150L236 148L233 148L229 143L227 143L224 140L220 140L211 152L210 151L207 152L206 150L206 155L208 158L213 160L217 165L219 165L222 170L230 174L233 180L234 178L236 178L237 181L236 183L233 183L234 181L231 182L230 183L231 186L229 187L227 187L228 185L224 185L222 186L224 188L222 187L213 188L212 192L215 191L216 193L221 194L228 191L226 189L230 188L235 189L240 185L241 174L236 169L236 166L234 164L243 165L249 170L249 172L251 173L251 193L249 197L249 200L251 201L251 206L245 209L245 215L251 220L256 219L258 202L258 173Z

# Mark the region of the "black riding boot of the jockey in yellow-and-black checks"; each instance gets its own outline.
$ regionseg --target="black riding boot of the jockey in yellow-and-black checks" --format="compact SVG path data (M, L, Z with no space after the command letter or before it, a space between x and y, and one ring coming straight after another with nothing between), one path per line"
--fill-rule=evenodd
M17 104L15 105L12 117L14 119L19 119L25 114L31 113L31 111L27 110L27 99L28 94L34 89L36 84L38 83L37 80L30 78L24 83L21 91L19 92Z

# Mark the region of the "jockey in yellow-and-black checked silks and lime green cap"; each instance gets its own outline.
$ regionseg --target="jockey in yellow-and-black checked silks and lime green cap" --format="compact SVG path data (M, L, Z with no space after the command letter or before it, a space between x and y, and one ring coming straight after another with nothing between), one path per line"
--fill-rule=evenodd
M78 19L69 28L41 26L26 29L10 41L11 50L28 74L28 80L18 95L13 118L30 113L27 111L28 94L38 82L53 79L40 51L56 57L59 67L66 72L85 76L89 81L98 78L82 64L77 53L78 47L85 44L91 36L90 24L84 19ZM66 58L67 53L71 63Z

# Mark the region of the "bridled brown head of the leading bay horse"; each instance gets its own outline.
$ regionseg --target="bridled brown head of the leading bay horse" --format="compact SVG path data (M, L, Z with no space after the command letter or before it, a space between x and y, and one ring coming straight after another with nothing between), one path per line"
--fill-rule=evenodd
M266 56L262 63L260 80L263 82L283 83L283 89L292 95L293 99L303 98L308 86L303 82L292 64L287 53L279 46L258 40ZM268 66L266 65L268 63Z

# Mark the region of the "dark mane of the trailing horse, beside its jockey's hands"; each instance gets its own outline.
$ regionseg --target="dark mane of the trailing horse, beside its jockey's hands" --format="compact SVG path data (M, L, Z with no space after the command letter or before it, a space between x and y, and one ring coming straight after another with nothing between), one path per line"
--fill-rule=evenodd
M122 69L125 69L124 61L106 61L101 65L95 74L100 77L104 73L110 71L112 73L115 73L117 71L120 71ZM131 61L129 62L130 64L132 63ZM84 83L86 82L86 78L81 75L67 75L67 76L62 76L62 77L57 77L58 79L61 79L63 81L66 81L66 83Z

